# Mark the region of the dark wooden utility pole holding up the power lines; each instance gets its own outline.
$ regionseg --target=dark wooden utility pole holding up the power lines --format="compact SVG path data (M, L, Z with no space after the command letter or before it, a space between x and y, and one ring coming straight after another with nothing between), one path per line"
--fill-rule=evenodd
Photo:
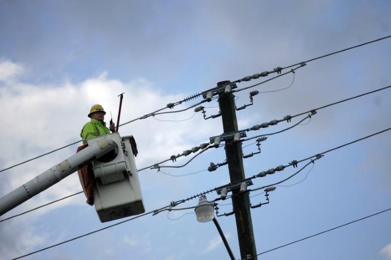
M221 81L217 87L227 84L230 81ZM229 93L218 94L218 105L221 112L224 133L238 131L238 121L236 119L234 95ZM229 177L231 182L245 179L242 159L242 149L240 142L230 142L225 145L225 155L228 162ZM235 212L236 226L238 230L239 249L241 259L253 256L252 260L257 260L257 249L254 240L253 222L250 212L250 198L247 192L239 193L239 189L233 190L232 204Z

